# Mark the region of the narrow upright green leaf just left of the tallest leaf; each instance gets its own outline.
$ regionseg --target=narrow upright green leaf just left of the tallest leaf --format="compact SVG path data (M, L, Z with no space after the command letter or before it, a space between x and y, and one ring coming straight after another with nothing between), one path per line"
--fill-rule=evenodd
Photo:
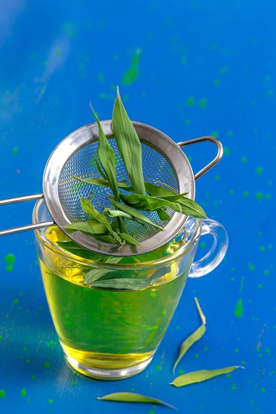
M91 104L90 104L91 106ZM115 152L112 150L106 135L104 135L103 128L97 117L95 110L91 109L94 113L95 119L99 128L99 145L98 145L98 157L103 167L104 174L106 175L112 193L115 195L115 199L119 200L119 190L117 186L117 176L116 176L116 167L115 167Z

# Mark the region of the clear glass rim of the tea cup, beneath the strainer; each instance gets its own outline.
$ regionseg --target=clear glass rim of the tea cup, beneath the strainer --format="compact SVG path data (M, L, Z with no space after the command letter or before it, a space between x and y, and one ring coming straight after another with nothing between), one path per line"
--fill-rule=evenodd
M32 224L39 223L39 208L41 207L41 204L43 204L43 199L40 199L37 201L37 203L34 205L34 209L32 210ZM46 205L45 205L46 206ZM47 207L46 207L47 208ZM108 263L102 263L97 262L97 260L92 259L84 259L83 257L79 257L77 255L74 255L73 253L69 253L66 249L57 246L57 244L51 242L43 232L43 228L38 228L34 230L34 234L39 239L39 242L43 244L43 246L46 246L47 248L50 248L50 250L53 250L55 254L61 256L61 257L67 257L68 259L72 260L72 262L81 264L83 266L97 266L99 268L112 268L112 269L139 269L139 268L145 268L145 267L151 267L151 266L159 266L166 264L168 262L172 262L175 259L178 259L181 255L183 255L184 251L187 253L197 242L201 235L201 219L197 219L195 217L189 217L188 221L190 219L195 220L195 229L193 230L193 234L191 235L190 239L188 239L188 242L186 244L182 244L181 247L171 255L161 257L160 259L154 259L149 260L148 262L139 262L139 263L120 263L118 264L108 264ZM186 223L188 222L186 221ZM45 228L45 227L44 227Z

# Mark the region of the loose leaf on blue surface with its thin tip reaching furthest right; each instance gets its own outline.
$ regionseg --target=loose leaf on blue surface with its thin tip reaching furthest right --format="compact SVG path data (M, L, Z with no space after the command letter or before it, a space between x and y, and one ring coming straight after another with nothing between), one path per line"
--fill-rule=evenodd
M179 377L176 377L175 380L173 380L170 383L170 385L179 387L179 386L184 386L184 385L189 385L189 384L195 384L196 382L210 380L210 378L231 373L237 368L244 368L244 367L243 366L228 366L227 368L195 371L193 373L179 375Z

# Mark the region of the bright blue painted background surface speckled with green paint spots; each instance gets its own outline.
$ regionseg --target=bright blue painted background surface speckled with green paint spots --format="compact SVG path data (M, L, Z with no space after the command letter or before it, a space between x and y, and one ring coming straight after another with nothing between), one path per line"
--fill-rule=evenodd
M101 119L110 118L112 85L121 85L139 50L137 79L121 85L130 117L175 141L217 132L226 155L197 183L197 201L230 237L221 266L188 282L149 368L121 382L72 375L50 319L32 233L1 238L0 390L6 392L1 413L169 412L96 400L131 388L163 398L181 413L275 412L273 2L269 9L268 3L261 8L239 0L3 0L0 14L1 198L41 192L50 152L92 121L90 100ZM208 144L189 149L195 171L214 151ZM30 222L31 204L2 206L0 228ZM10 272L8 253L16 257ZM197 254L202 253L203 247ZM244 364L246 369L173 388L168 383L179 344L199 324L195 295L207 332L179 368ZM239 299L244 313L238 318Z

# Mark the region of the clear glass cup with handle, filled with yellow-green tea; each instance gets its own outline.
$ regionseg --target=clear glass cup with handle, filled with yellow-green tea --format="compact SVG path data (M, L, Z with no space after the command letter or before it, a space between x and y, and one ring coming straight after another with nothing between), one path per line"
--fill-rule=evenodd
M44 201L38 201L33 224L49 219ZM199 238L206 234L213 235L213 246L193 263ZM194 218L170 244L108 262L95 262L87 250L80 257L58 246L67 237L57 227L35 230L35 236L50 313L66 359L77 371L102 380L130 377L148 366L187 277L210 273L228 247L221 224Z

